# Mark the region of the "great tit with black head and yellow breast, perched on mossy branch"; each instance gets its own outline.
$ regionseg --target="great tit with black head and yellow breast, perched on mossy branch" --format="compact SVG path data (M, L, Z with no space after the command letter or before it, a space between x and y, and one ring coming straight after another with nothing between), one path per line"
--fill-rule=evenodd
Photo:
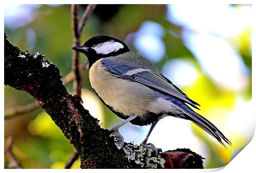
M97 96L112 112L125 119L114 126L113 131L118 132L127 122L139 126L152 124L142 142L146 145L159 119L173 116L192 121L224 147L222 140L231 145L215 125L188 106L197 108L198 103L161 75L149 60L131 52L122 41L96 36L72 49L87 56L90 84Z

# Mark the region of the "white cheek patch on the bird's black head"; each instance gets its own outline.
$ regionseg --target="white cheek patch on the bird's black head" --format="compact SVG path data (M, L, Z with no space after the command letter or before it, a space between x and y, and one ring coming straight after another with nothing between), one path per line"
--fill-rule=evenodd
M107 55L111 52L116 52L119 49L123 49L123 44L119 42L115 42L114 40L97 44L96 46L92 47L96 51L97 54L104 54Z

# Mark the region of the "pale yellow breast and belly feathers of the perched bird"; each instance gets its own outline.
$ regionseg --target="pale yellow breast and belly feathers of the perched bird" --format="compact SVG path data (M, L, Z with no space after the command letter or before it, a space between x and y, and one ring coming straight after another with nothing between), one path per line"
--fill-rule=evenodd
M123 115L144 115L154 98L151 89L137 82L130 82L111 75L96 61L89 70L92 88L100 98Z

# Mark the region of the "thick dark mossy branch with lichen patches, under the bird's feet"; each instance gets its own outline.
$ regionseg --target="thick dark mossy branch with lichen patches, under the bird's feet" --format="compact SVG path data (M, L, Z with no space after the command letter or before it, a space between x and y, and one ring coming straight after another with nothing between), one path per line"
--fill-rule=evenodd
M123 149L119 150L113 135L110 137L109 131L102 129L99 121L83 108L81 98L71 96L66 91L59 69L42 54L20 51L7 40L6 35L5 85L26 91L36 99L76 148L81 158L81 168L162 168L164 161L161 156L165 158L166 168L180 168L175 163L180 161L177 155L184 155L184 152L175 152L175 157L172 152L171 155L169 152L154 157L152 149L133 143L125 143ZM195 162L193 158L199 161ZM190 161L193 168L202 168L201 157L187 155L182 159L183 162ZM182 168L188 168L186 165L183 164Z

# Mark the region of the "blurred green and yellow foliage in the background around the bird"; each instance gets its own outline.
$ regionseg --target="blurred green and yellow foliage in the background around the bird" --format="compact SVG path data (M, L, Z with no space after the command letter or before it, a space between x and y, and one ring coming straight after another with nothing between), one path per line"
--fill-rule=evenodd
M100 7L107 8L104 5L100 5ZM85 6L80 8L80 17L84 9ZM104 16L104 13L101 15L94 13L85 25L81 39L82 42L95 35L110 35L124 40L127 35L139 30L144 21L154 21L164 28L162 41L165 44L166 55L161 61L156 63L159 70L162 69L166 61L173 58L192 61L197 68L199 77L192 85L185 86L181 89L190 98L201 103L200 114L205 117L214 116L214 119L216 119L219 115L209 113L211 108L232 110L235 97L237 94L241 94L241 92L237 93L236 91L221 89L201 70L196 58L183 43L181 38L183 28L166 20L167 9L165 5L120 5L116 6L115 10L113 15L109 16L108 19L100 18L100 16ZM102 13L102 11L97 9L95 12ZM34 15L33 21L24 27L17 29L5 27L7 37L13 45L19 47L22 51L31 47L28 51L32 53L37 51L45 54L46 58L59 68L60 74L64 77L71 71L72 63L71 47L73 36L70 5L57 7L41 5L35 10ZM30 37L28 33L31 30L36 35L35 45L32 46L28 44ZM236 51L242 56L244 63L249 69L249 84L242 91L242 95L246 100L251 99L250 37L251 27L244 30L237 37L230 39L230 42L232 42ZM133 46L133 39L128 39L127 44L133 51L137 51ZM80 63L82 64L85 61L85 57L81 56L80 59ZM92 91L88 79L88 70L83 75L83 87ZM66 88L69 93L72 92L72 84L68 84ZM204 94L201 94L202 91L204 91ZM5 110L32 102L34 102L32 96L23 91L17 91L5 86ZM120 121L103 104L102 109L104 112L103 116L107 117L104 118L102 124L104 128L109 128ZM230 150L225 150L220 145L212 145L209 138L206 137L208 134L205 134L196 126L193 125L192 129L198 138L203 140L206 145L209 145L210 156L204 165L205 168L216 168L228 163L231 156ZM74 150L59 128L42 109L5 120L5 138L8 136L14 136L14 153L21 160L24 168L63 168L69 155ZM232 143L234 143L235 137L232 139ZM241 147L247 143L247 140L247 138L240 135L240 144L235 146ZM7 167L7 163L8 159L5 158L5 168ZM79 168L79 161L76 161L72 168Z

